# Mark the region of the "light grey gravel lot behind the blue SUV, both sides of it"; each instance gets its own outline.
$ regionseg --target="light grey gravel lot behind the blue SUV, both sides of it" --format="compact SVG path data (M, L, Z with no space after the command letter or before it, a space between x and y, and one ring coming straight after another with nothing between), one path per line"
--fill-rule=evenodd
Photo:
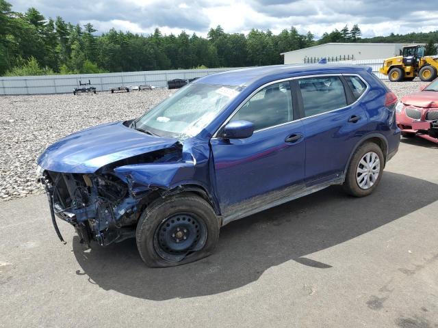
M387 85L400 98L421 81ZM0 200L41 193L35 170L38 154L75 131L138 117L173 91L0 97Z

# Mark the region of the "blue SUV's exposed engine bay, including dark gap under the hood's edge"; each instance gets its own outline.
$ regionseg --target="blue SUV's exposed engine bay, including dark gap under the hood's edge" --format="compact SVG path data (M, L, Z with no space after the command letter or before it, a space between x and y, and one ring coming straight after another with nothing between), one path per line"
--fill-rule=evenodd
M40 182L49 197L53 226L62 238L55 216L72 224L81 243L96 241L109 245L135 236L136 223L148 202L166 189L138 181L127 172L117 174L118 167L149 163L181 163L180 143L105 165L93 174L60 173L44 170Z

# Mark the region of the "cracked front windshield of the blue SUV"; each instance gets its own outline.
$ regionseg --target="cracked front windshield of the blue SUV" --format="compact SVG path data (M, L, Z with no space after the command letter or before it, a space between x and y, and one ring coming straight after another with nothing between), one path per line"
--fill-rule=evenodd
M146 133L185 139L202 131L242 87L190 83L134 122Z

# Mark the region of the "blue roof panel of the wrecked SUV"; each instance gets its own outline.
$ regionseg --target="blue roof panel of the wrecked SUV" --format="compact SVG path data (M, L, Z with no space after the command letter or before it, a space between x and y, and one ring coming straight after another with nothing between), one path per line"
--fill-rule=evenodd
M267 83L278 79L287 79L300 75L309 74L335 74L352 73L367 70L367 66L342 65L342 64L296 64L296 65L272 65L251 68L228 70L216 74L207 75L197 79L193 83L206 83L216 85L242 85L252 83Z

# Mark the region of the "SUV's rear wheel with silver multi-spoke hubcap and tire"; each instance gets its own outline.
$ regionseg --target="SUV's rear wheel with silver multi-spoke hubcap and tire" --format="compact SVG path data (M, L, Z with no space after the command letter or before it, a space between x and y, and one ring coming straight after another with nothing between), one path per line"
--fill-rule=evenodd
M363 143L348 165L344 190L355 197L370 195L382 178L383 166L381 148L376 143Z

